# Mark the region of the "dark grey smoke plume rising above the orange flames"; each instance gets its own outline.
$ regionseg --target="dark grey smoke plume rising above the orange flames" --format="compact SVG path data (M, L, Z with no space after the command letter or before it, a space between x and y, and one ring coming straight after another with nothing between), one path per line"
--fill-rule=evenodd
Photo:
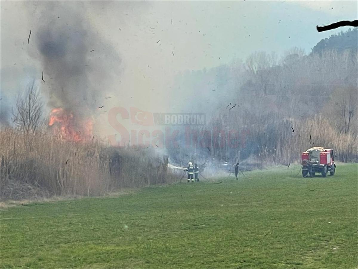
M83 3L41 3L32 36L44 74L41 90L50 108L77 118L93 115L119 73L120 58L84 17Z

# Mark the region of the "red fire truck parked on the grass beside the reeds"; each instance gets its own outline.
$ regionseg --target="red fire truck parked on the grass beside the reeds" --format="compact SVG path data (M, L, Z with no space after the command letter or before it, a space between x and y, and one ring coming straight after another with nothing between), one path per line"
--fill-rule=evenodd
M333 150L323 147L312 147L305 152L302 152L302 176L313 177L315 173L321 173L325 178L330 173L331 176L335 173L335 163Z

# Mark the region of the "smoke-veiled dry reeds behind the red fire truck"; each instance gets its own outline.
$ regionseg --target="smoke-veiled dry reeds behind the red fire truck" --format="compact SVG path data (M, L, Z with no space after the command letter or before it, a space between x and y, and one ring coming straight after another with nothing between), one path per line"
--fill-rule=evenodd
M358 162L358 130L350 133L339 132L328 118L317 115L308 119L285 119L282 115L253 115L248 112L233 115L227 126L220 119L212 123L212 128L238 130L240 146L229 148L212 144L210 154L221 159L248 157L263 164L284 164L299 162L301 152L310 147L332 148L337 154L336 160ZM292 132L292 128L294 132Z

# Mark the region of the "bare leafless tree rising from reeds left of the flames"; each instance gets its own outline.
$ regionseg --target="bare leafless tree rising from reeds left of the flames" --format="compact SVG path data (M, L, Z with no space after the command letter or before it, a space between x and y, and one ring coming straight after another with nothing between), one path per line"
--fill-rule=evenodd
M18 94L15 107L12 110L15 126L27 134L34 133L43 124L43 103L34 84L35 81L30 84L28 90Z

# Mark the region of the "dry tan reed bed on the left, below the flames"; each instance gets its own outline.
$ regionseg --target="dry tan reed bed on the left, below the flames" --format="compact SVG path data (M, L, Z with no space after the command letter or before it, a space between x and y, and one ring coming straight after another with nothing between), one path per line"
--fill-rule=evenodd
M0 132L0 145L3 199L34 197L40 190L41 196L103 195L167 182L168 160L151 151L116 149L98 140L69 142L14 129Z

